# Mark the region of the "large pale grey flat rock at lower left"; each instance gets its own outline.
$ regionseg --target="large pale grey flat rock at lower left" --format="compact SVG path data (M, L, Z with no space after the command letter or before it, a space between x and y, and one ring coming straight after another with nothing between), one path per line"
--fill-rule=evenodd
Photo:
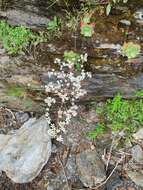
M32 181L51 155L51 138L44 117L29 119L19 129L0 135L0 170L15 183Z

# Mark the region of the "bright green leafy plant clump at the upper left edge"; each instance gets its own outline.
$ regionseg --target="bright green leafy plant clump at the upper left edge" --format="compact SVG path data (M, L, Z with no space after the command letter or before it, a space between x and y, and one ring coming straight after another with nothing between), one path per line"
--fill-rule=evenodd
M23 49L36 40L36 35L24 26L12 27L0 21L0 41L10 54L21 53Z

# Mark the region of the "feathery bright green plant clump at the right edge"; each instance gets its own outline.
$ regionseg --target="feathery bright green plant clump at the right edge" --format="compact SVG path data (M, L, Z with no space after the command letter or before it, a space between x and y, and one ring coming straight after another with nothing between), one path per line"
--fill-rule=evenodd
M123 100L121 95L107 100L96 109L101 132L110 129L112 133L123 132L124 139L130 139L132 134L143 124L143 100ZM98 129L99 130L99 129ZM98 130L95 128L95 137Z

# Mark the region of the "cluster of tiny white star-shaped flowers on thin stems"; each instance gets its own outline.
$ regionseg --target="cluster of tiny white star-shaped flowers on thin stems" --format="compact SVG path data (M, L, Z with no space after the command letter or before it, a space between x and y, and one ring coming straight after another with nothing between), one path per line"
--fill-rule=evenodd
M55 64L59 65L59 71L52 69L48 72L49 83L45 86L48 97L45 99L47 104L45 116L50 125L49 134L57 141L62 141L62 133L66 133L66 126L70 123L71 118L77 115L78 106L76 101L86 94L82 89L81 83L87 77L91 77L90 72L85 72L83 63L87 61L87 54L81 55L78 63L81 64L81 72L75 71L75 62L61 61L55 59ZM51 95L51 97L49 97ZM58 101L60 105L57 109L56 121L50 117L51 107Z

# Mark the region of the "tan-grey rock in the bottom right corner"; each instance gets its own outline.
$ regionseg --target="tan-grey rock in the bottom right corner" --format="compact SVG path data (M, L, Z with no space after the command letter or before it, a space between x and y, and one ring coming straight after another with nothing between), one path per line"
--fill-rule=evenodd
M135 182L136 185L143 187L143 171L128 171L128 176Z

